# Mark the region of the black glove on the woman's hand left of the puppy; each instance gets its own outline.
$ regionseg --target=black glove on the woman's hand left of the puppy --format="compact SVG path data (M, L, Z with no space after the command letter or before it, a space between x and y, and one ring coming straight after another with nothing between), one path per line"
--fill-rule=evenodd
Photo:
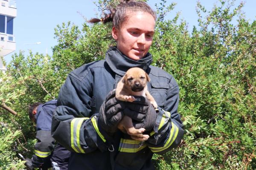
M98 126L108 134L117 131L117 125L124 116L124 102L116 99L116 90L112 90L99 110Z

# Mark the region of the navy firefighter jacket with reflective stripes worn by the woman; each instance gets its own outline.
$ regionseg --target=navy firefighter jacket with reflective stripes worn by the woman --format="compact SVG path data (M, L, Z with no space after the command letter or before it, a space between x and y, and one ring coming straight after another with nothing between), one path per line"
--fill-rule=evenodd
M52 117L52 137L72 151L69 170L153 170L153 153L177 147L184 132L177 113L179 88L172 75L151 62L149 53L134 61L112 47L104 60L82 65L67 76ZM128 139L120 131L107 138L97 125L97 113L106 95L131 67L148 73L148 90L160 107L145 142Z

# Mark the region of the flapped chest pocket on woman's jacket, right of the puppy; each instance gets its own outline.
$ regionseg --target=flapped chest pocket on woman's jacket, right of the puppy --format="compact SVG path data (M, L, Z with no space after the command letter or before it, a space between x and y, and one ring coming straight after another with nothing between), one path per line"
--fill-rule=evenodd
M166 102L166 91L168 88L169 85L167 82L151 82L150 94L160 107L163 107Z

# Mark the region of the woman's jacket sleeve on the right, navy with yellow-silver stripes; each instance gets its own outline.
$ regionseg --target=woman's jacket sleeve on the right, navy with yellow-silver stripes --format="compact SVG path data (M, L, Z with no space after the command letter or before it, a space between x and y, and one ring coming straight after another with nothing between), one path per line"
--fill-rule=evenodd
M163 154L177 147L183 137L183 124L177 113L179 103L179 87L174 78L169 82L164 108L158 108L154 130L147 141L152 152Z

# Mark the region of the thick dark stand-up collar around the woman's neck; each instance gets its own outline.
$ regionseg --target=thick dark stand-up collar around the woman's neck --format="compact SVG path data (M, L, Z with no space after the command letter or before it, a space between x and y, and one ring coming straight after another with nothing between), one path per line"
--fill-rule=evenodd
M134 61L122 54L116 47L111 47L106 52L106 62L112 71L123 76L132 67L139 67L146 71L152 62L152 55L148 53L143 59Z

